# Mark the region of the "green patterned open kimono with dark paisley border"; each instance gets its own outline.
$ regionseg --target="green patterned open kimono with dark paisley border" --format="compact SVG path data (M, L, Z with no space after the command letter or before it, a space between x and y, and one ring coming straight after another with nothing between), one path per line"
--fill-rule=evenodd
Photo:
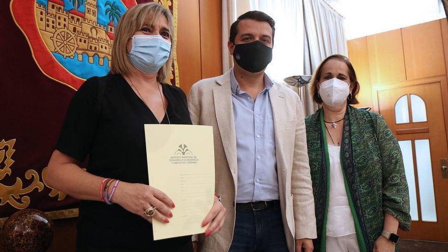
M345 187L359 249L372 251L383 230L384 212L398 219L400 229L410 228L403 157L381 115L347 106L344 119L341 165ZM322 108L305 123L318 234L314 251L325 251L330 167Z

